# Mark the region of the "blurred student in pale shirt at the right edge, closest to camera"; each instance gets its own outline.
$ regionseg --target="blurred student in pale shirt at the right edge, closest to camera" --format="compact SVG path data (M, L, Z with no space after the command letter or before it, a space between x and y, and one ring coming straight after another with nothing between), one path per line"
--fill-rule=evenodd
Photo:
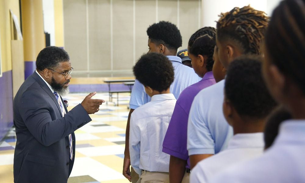
M292 115L265 153L225 170L213 183L305 182L305 1L284 0L266 32L263 76L271 95Z

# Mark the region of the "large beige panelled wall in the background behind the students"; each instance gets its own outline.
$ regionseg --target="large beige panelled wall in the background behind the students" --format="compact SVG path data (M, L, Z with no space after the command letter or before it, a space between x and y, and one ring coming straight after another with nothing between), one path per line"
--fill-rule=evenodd
M160 20L178 26L181 49L187 48L200 9L201 0L64 0L64 45L74 77L132 76L148 51L146 29Z

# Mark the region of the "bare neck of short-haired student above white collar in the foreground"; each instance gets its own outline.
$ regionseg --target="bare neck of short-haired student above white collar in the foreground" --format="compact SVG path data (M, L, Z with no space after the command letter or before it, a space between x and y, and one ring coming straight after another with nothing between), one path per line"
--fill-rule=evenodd
M233 124L234 135L239 133L258 133L263 132L265 126L265 119L250 120L241 120L238 123Z

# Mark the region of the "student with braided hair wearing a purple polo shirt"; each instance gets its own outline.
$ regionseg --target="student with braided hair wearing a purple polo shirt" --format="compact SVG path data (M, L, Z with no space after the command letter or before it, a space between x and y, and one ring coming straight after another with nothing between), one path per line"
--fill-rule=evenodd
M193 69L202 80L181 92L163 141L162 151L170 155L171 183L189 182L190 162L186 149L188 113L197 93L215 84L212 73L215 36L215 28L203 27L188 41L188 54L192 59Z

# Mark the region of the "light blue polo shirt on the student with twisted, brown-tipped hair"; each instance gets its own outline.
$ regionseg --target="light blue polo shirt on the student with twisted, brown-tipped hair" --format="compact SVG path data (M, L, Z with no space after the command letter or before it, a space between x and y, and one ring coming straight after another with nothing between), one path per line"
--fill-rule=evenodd
M222 113L224 80L201 90L188 117L188 155L216 154L224 150L233 129Z

